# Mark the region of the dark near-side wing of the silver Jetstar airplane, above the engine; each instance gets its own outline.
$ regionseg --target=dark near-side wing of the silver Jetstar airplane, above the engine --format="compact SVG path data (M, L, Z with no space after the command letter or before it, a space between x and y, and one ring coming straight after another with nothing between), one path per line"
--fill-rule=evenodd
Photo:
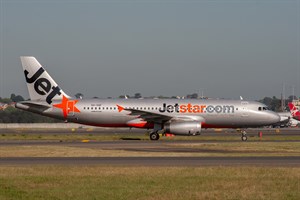
M130 111L129 115L138 116L139 118L143 119L144 121L153 122L153 123L164 123L173 118L173 117L170 117L167 115L152 113L152 112L143 111L143 110L135 110L135 109L124 109L124 110Z

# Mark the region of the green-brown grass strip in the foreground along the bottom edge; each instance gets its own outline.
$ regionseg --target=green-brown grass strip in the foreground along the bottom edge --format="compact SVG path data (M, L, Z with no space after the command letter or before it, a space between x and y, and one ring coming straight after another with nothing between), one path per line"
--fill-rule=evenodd
M300 199L284 167L0 166L0 199Z

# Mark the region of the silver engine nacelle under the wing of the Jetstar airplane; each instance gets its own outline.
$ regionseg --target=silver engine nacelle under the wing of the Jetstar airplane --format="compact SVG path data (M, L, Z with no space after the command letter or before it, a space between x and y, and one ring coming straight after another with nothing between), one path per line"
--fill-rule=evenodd
M164 125L164 129L166 133L174 135L199 135L201 132L201 122L168 122Z

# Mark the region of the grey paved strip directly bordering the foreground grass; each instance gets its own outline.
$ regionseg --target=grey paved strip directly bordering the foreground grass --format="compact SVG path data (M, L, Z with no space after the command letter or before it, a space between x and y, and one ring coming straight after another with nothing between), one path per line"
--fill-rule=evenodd
M0 158L0 165L112 166L283 166L299 167L295 157L22 157Z

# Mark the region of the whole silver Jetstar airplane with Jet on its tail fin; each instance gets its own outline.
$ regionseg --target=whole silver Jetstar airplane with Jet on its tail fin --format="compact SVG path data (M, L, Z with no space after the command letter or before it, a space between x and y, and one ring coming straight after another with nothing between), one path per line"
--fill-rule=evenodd
M34 57L22 56L30 100L15 107L44 116L99 127L151 129L160 134L199 135L203 128L239 129L280 121L277 113L256 101L211 99L75 99L68 96Z

